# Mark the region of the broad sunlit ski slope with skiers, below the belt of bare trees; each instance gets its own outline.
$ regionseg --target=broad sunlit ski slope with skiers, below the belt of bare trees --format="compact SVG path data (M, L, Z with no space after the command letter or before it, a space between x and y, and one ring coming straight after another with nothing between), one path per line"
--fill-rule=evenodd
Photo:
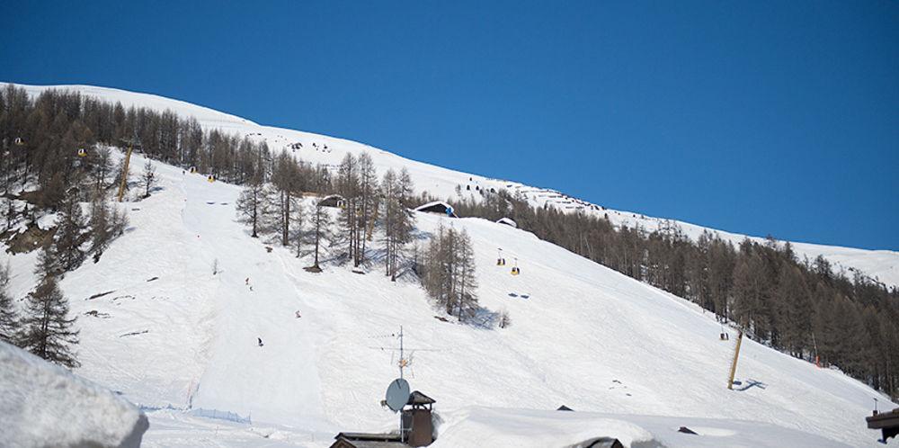
M890 406L841 372L749 340L737 370L742 386L727 390L735 337L720 341L715 319L690 302L520 229L418 213L423 232L441 223L469 232L481 304L507 310L512 327L445 322L416 283L389 282L377 264L364 275L334 265L316 274L285 248L269 252L236 222L238 187L157 170L162 190L128 204L126 234L60 283L82 330L78 373L145 408L251 418L252 426L222 424L234 444L258 436L261 445L264 433L277 444L327 446L337 430L395 427L378 403L398 373L396 354L378 347L396 346L389 335L401 325L406 347L418 349L407 378L437 399L447 428L470 406L565 404L625 419L690 417L687 426L750 420L867 446L877 437L864 423L872 398ZM518 258L521 275L495 265L497 247ZM35 255L4 258L11 292L22 297L34 284ZM150 412L147 445L212 437L211 424L179 416Z

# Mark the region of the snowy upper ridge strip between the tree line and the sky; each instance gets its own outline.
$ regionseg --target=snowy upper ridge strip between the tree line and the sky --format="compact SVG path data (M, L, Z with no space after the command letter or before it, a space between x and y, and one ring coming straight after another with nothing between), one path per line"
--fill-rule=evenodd
M182 117L195 117L207 129L217 128L252 139L264 140L271 149L288 150L297 157L313 163L334 166L340 162L343 155L347 152L359 154L362 151L367 151L381 172L386 170L387 167L399 168L405 166L409 169L419 192L427 191L441 198L455 197L457 185L461 187L462 194L466 196L474 194L475 197L478 197L476 194L478 188L483 188L487 191L504 188L511 193L521 192L525 194L534 205L542 206L546 203L563 211L580 210L588 213L608 214L610 221L617 226L636 227L639 225L652 231L656 228L667 226L671 222L676 222L692 238L699 237L707 229L717 231L721 237L732 241L734 245L739 244L744 237L743 235L703 228L681 221L646 217L628 211L606 210L602 209L600 205L584 202L555 190L531 187L517 182L493 179L483 175L471 175L439 166L427 165L350 140L335 139L298 130L262 126L253 121L247 121L223 112L216 112L209 108L152 94L136 94L117 89L86 85L20 86L25 88L31 95L40 94L40 92L49 88L67 89L112 103L120 102L126 107L147 107L157 111L169 109ZM300 147L299 145L302 146ZM470 191L467 190L467 187L470 187ZM761 237L753 237L753 239L757 241L762 240ZM807 256L809 259L814 259L817 255L824 255L837 269L857 270L887 285L899 286L899 252L808 243L794 243L794 249L800 257Z

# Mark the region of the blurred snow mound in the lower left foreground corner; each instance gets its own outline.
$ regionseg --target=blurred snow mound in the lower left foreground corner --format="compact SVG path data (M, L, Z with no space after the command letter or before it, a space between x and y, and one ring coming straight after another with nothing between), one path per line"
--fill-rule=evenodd
M137 447L146 430L127 400L0 342L0 446Z

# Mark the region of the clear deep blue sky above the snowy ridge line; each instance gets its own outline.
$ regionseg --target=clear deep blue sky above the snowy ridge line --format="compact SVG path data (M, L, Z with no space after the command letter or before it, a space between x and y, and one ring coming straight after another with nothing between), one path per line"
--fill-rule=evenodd
M899 250L895 2L3 2L0 80L161 94L612 208Z

